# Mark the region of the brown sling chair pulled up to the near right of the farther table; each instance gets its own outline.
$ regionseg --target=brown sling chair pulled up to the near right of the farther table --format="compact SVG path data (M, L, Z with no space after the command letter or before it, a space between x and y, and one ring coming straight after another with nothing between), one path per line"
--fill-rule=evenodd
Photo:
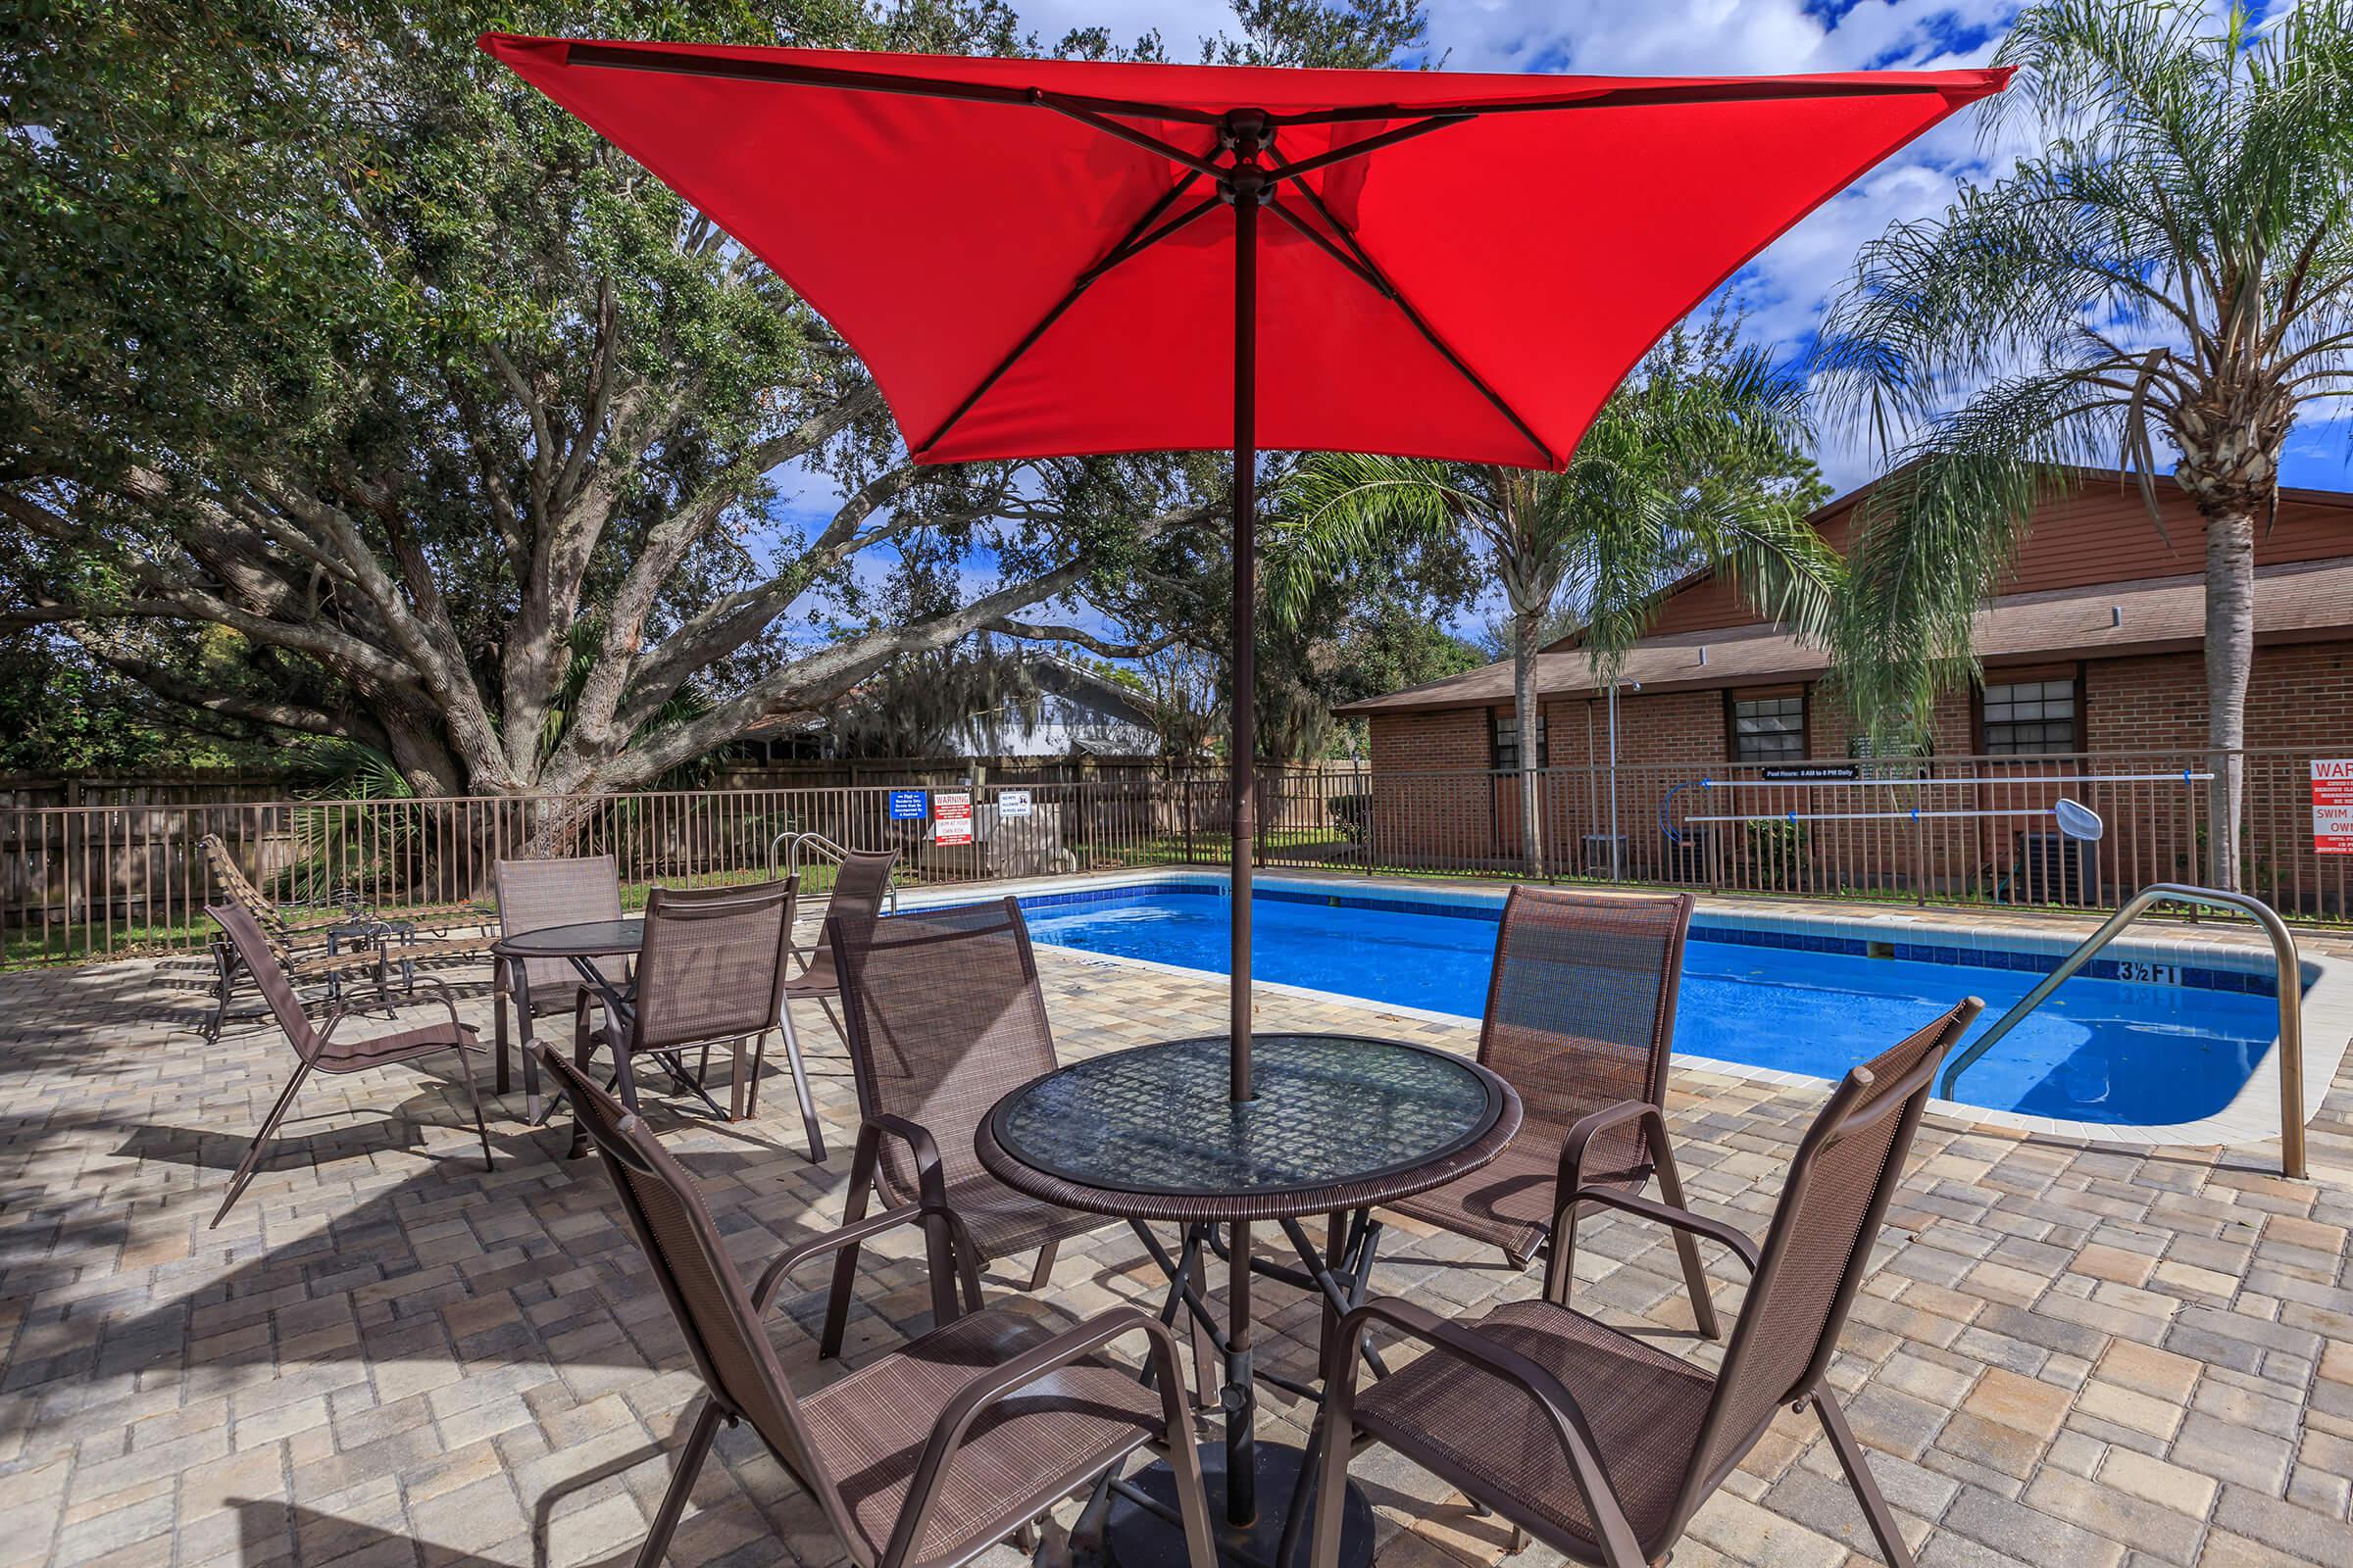
M753 886L678 891L656 886L645 900L645 943L628 994L600 997L607 1023L588 1030L574 1016L574 1060L612 1051L621 1103L638 1110L638 1060L659 1063L671 1081L722 1121L741 1121L746 1084L758 1074L760 1044L776 1027L793 943L793 877ZM729 1107L711 1098L711 1046L729 1041ZM751 1072L744 1044L751 1041ZM685 1053L699 1048L694 1072ZM562 1098L562 1095L558 1095ZM555 1100L541 1117L553 1114ZM576 1152L574 1135L574 1152Z

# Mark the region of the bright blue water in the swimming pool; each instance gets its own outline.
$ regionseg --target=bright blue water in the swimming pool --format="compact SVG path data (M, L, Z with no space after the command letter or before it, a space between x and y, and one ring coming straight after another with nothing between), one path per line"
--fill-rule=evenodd
M1049 893L1024 905L1040 943L1226 973L1226 900L1214 884ZM1348 896L1334 903L1325 889L1261 884L1252 966L1261 980L1478 1018L1499 907L1374 907ZM1967 947L1922 959L1760 940L1788 938L1711 929L1704 914L1692 922L1678 1053L1838 1077L1967 994L1986 999L1974 1039L2042 978L1991 969ZM1835 945L1859 947L1861 931ZM2049 969L2031 954L2017 961ZM2075 1121L2191 1121L2224 1110L2278 1034L2268 978L2188 971L2184 985L2127 985L2097 973L2061 985L1969 1067L1962 1098ZM2261 990L2219 990L2235 985Z

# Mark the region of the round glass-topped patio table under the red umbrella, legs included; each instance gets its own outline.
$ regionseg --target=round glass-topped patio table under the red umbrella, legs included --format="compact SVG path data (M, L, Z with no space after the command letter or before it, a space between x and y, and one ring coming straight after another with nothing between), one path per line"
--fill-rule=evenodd
M1169 1276L1160 1321L1191 1312L1224 1361L1226 1441L1202 1448L1219 1552L1289 1568L1313 1467L1299 1448L1257 1441L1257 1382L1306 1399L1320 1389L1252 1366L1252 1276L1318 1293L1329 1331L1365 1295L1381 1229L1372 1208L1501 1154L1520 1131L1520 1095L1468 1058L1355 1034L1257 1034L1252 1063L1257 1098L1235 1105L1224 1034L1087 1058L998 1100L974 1152L1016 1192L1136 1229ZM1322 1246L1304 1225L1313 1215L1327 1215ZM1181 1227L1176 1253L1151 1220ZM1268 1222L1299 1267L1252 1248L1252 1227ZM1198 1286L1202 1253L1228 1265L1224 1328ZM1381 1371L1377 1352L1367 1359ZM1346 1521L1341 1561L1369 1561L1372 1509L1353 1488ZM1125 1568L1184 1563L1162 1465L1120 1483L1106 1549Z

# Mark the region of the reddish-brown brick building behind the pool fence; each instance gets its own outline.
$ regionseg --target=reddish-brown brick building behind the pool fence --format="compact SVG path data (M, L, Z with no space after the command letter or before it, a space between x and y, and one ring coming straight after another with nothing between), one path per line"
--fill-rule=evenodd
M1831 501L1814 527L1842 548L1854 508L1871 487ZM1699 574L1675 585L1652 632L1619 677L1617 830L1635 875L1694 879L1678 865L1694 853L1675 827L1692 811L1668 799L1699 778L1758 780L1741 811L2014 806L2045 804L2061 790L1948 788L1937 799L1904 795L1901 778L2064 778L2068 771L2181 771L2202 766L2205 743L2205 524L2172 484L2160 489L2165 527L2151 527L2137 489L2118 475L2085 473L2068 496L2028 524L2000 592L1977 616L1984 682L1948 693L1932 719L1925 762L1857 759L1842 705L1821 691L1828 658L1779 625L1758 621L1729 581ZM1544 719L1539 764L1548 769L1546 849L1555 867L1593 860L1607 846L1609 703L1577 639L1537 661ZM1400 858L1508 860L1518 853L1518 726L1511 663L1494 663L1426 686L1351 703L1372 731L1381 849ZM2353 755L2353 494L2285 491L2280 515L2257 538L2257 661L2247 696L2257 858L2273 846L2273 875L2292 867L2287 832L2301 802L2301 762L2285 752ZM2139 757L2132 766L2059 762L2080 755ZM2268 757L2259 752L2280 752ZM1765 790L1767 769L1800 762L1852 766L1887 788L1831 795ZM2297 778L2289 778L2289 771ZM1482 776L1475 790L1464 776ZM2271 778L2278 773L2278 778ZM1440 783L1445 778L1445 783ZM2202 809L2198 785L2094 785L2075 795L2139 835L2111 842L2094 875L2127 884L2195 872ZM1849 799L1852 797L1852 799ZM1715 813L1729 797L1718 797ZM1668 820L1661 825L1661 802ZM1814 837L1864 839L1878 827L1835 827ZM1866 877L1908 886L2002 875L2019 849L2007 827L1965 823L1913 827L1913 844L1880 856L1887 872ZM1706 835L1682 835L1704 839ZM1739 835L1734 835L1739 837ZM1941 849L1927 853L1922 839ZM2118 832L2111 832L2118 839ZM1821 860L1824 844L1814 844ZM1854 844L1845 844L1854 849ZM2033 849L2031 844L2026 846ZM2304 858L2308 858L2304 844ZM1722 856L1725 851L1711 851ZM2012 865L2014 870L2014 865ZM2259 867L2261 870L2261 867ZM2341 867L2320 867L2344 884ZM1725 867L1708 872L1720 879Z

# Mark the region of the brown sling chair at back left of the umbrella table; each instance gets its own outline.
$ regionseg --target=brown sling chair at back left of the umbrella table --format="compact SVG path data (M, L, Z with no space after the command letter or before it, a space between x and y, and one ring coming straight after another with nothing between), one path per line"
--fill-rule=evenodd
M859 1084L859 1143L849 1161L847 1225L868 1190L885 1204L948 1215L955 1276L981 1305L981 1265L1038 1251L1031 1291L1047 1281L1066 1237L1115 1225L1106 1215L1024 1197L981 1168L972 1133L1007 1091L1054 1072L1054 1032L1038 987L1028 924L1012 898L894 914L864 938L826 922L842 976L842 1023ZM833 1272L821 1352L842 1349L856 1246Z

